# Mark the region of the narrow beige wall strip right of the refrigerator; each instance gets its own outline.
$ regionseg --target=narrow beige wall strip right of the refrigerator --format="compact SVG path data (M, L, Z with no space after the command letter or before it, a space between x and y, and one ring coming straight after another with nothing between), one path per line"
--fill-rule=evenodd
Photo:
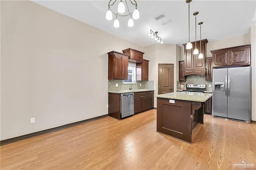
M256 25L251 26L252 120L256 121Z

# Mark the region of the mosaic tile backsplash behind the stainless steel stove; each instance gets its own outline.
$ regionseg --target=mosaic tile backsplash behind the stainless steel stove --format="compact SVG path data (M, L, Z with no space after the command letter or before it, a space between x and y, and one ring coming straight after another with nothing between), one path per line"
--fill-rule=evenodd
M206 91L212 91L212 81L206 81L203 75L187 75L186 81L177 81L177 89L180 89L180 83L184 83L184 89L186 89L187 84L204 84L206 85Z

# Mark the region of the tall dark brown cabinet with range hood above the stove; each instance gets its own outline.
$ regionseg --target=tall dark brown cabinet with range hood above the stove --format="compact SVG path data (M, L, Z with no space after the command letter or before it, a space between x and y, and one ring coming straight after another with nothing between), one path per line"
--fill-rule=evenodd
M183 76L186 75L205 75L205 58L206 58L206 43L207 39L202 40L202 49L200 49L200 40L192 42L192 49L186 49L186 43L184 45L184 71ZM200 50L204 55L204 58L198 58L199 54L194 55L194 48L197 47L199 53Z

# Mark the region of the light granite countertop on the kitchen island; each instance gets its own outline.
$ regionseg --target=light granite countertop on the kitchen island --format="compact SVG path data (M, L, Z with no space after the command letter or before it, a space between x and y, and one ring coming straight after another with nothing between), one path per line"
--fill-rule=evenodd
M177 99L177 100L186 100L186 101L198 101L206 102L212 94L210 93L196 93L196 92L173 92L165 93L161 95L156 95L156 97L167 98L167 99Z

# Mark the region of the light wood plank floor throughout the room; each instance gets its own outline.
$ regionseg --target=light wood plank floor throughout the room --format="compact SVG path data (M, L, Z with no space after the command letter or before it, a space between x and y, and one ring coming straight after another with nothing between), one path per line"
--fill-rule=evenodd
M256 124L205 115L187 144L156 132L156 110L1 146L1 169L256 169Z

